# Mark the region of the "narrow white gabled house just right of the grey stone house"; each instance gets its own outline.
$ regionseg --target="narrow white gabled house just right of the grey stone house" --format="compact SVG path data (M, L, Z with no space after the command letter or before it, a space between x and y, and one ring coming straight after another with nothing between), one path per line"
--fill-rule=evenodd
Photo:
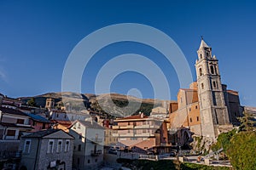
M96 169L103 162L104 128L94 121L76 121L69 128L74 139L73 167Z

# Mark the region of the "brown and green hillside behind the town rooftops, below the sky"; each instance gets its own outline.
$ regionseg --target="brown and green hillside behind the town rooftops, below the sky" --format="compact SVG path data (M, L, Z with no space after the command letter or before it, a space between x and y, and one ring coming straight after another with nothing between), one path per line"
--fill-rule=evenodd
M69 104L75 111L82 111L85 107L93 110L107 113L108 116L130 116L138 114L140 111L149 115L154 107L160 105L169 105L169 100L160 99L138 99L134 96L124 94L77 94L77 93L48 93L31 97L21 97L23 103L29 99L35 99L38 106L45 106L48 98L55 99L55 103L62 101L63 104ZM129 107L127 107L129 105ZM103 107L103 108L102 108Z

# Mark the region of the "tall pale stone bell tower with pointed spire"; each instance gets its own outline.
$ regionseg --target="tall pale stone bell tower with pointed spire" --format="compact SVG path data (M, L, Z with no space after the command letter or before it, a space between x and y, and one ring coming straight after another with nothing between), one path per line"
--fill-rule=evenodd
M230 124L229 113L224 100L218 59L212 56L212 48L201 39L197 51L195 69L200 103L201 133L204 137L215 139L218 127Z

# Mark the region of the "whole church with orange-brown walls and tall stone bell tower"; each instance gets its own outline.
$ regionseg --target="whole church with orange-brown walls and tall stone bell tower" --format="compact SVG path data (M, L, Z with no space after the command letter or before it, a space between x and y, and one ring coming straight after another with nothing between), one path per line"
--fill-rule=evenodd
M214 141L239 123L242 107L238 92L222 84L218 59L203 39L197 55L196 82L179 89L177 102L170 104L170 129L189 127L195 135Z

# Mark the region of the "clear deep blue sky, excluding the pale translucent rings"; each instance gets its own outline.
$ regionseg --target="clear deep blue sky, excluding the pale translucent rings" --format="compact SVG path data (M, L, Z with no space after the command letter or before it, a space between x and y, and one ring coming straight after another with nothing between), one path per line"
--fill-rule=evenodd
M165 32L182 49L195 80L201 35L219 59L222 82L239 91L242 105L256 106L253 1L0 1L0 93L10 97L61 91L62 71L75 45L91 32L140 23ZM84 70L83 93L94 93L97 71L120 54L142 54L160 65L176 99L176 72L158 51L136 42L102 48ZM116 77L111 90L138 88L154 98L150 81L136 72ZM187 87L181 87L187 88Z

